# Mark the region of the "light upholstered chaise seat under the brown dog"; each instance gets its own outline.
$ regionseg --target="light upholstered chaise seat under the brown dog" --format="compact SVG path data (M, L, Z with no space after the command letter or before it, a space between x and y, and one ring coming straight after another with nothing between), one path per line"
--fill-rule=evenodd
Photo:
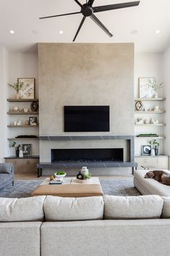
M170 174L170 171L166 171ZM161 184L155 179L145 179L146 170L134 171L134 185L143 195L160 195L161 197L170 196L170 186Z

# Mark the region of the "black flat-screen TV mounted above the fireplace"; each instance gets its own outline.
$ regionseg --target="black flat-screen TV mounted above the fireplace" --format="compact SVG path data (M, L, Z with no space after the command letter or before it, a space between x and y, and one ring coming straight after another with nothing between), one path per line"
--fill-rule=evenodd
M109 106L64 106L64 132L109 132Z

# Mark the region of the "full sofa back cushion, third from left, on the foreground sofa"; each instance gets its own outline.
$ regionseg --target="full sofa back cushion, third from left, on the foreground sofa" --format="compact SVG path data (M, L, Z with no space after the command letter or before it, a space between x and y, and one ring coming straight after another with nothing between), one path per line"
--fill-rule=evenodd
M160 218L164 200L158 195L104 195L104 219Z

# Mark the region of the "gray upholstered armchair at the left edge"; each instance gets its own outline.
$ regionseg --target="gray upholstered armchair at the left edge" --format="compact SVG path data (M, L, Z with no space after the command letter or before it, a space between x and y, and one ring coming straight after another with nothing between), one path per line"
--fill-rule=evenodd
M0 163L0 189L14 185L14 166L12 163Z

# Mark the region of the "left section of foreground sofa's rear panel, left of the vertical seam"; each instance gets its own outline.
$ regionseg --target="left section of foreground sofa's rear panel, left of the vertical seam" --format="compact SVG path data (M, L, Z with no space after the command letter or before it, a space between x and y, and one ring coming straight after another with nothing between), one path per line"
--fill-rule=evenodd
M0 223L1 256L40 256L42 222Z

